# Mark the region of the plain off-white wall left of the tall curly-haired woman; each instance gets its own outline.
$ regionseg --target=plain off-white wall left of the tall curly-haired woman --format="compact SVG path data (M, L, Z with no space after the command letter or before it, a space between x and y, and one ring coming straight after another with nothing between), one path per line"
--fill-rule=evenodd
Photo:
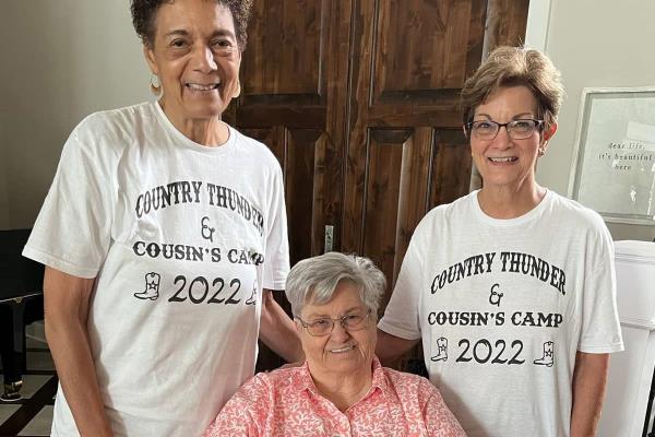
M29 227L90 113L152 98L129 0L2 0L0 228Z

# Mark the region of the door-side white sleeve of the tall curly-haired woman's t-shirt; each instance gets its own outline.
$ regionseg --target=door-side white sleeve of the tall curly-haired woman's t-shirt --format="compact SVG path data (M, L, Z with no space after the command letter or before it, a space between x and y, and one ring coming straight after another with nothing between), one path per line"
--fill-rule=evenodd
M284 290L289 272L289 243L287 237L286 205L282 168L275 161L271 206L266 217L266 253L264 258L263 287Z

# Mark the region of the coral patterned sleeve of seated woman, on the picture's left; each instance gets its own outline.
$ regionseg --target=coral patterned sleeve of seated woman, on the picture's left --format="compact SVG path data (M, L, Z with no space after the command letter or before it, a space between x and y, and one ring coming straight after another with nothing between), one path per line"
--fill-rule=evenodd
M225 404L203 437L262 436L269 404L267 385L261 375L255 375Z

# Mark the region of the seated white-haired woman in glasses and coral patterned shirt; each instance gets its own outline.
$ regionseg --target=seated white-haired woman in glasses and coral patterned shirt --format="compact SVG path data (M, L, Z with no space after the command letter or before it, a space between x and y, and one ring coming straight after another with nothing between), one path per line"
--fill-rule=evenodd
M286 293L306 362L255 375L205 437L464 436L430 381L374 356L385 284L367 258L331 252L298 262Z

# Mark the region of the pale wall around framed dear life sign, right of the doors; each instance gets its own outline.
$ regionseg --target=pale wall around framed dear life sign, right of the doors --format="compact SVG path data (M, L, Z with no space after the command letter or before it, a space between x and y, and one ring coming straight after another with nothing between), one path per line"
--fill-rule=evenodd
M655 86L654 16L654 1L550 1L545 49L562 72L567 99L558 133L539 161L539 182L568 194L583 87ZM615 239L655 237L655 226L608 227Z

